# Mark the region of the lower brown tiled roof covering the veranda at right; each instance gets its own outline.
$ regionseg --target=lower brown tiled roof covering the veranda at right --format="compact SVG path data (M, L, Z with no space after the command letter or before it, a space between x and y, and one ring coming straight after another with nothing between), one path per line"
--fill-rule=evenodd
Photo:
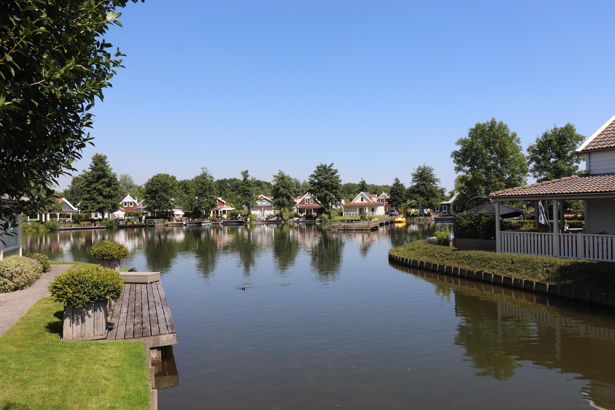
M491 192L490 197L519 197L536 195L615 193L615 175L566 176L504 191Z

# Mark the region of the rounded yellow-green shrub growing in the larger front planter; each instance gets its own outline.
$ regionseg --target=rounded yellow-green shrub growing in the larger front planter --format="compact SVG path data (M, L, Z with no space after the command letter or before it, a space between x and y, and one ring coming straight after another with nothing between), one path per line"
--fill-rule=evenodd
M124 281L114 270L100 266L86 267L69 269L57 275L47 289L53 301L85 307L95 301L119 298L124 290Z

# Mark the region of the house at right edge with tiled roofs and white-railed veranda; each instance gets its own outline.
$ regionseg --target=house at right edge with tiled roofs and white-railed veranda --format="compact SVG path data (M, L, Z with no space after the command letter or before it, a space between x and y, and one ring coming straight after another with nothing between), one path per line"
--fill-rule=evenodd
M496 251L615 262L615 116L576 150L586 173L492 192L496 208ZM584 203L585 227L565 229L565 201ZM502 231L500 203L531 201L549 209L553 224L530 231ZM533 231L533 232L531 232Z

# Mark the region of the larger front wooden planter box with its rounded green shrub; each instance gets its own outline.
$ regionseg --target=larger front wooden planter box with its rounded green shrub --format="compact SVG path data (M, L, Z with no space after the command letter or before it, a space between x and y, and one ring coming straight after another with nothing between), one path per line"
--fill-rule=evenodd
M47 289L64 304L62 340L103 339L107 301L122 296L124 281L118 272L96 266L66 270Z

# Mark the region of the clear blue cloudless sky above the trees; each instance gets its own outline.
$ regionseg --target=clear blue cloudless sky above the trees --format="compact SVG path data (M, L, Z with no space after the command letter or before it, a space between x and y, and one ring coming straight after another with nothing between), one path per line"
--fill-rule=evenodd
M97 103L95 152L139 184L335 162L343 182L408 183L476 122L523 148L615 114L614 2L182 1L123 10L106 39L127 54ZM582 164L582 167L584 164ZM61 187L68 181L63 179Z

